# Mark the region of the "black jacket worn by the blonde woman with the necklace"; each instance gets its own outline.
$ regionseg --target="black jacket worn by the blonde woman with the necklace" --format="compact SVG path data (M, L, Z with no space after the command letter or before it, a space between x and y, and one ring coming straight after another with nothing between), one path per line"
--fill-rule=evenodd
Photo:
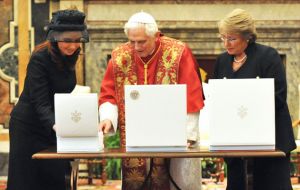
M276 148L290 152L296 148L291 118L286 103L287 83L281 58L274 48L253 43L245 50L246 62L233 71L233 56L227 52L217 58L214 78L274 78Z

